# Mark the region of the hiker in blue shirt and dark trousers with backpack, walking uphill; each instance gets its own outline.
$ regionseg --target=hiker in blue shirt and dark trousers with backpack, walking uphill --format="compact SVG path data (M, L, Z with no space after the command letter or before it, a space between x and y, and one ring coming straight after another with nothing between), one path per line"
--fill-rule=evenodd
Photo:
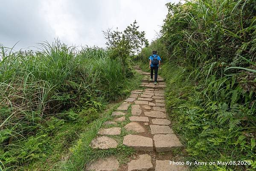
M157 71L158 68L160 69L160 64L161 64L161 58L159 55L157 55L157 51L152 52L153 55L149 56L149 68L151 69L150 73L150 81L153 81L153 70L155 72L155 78L154 78L154 84L157 85Z

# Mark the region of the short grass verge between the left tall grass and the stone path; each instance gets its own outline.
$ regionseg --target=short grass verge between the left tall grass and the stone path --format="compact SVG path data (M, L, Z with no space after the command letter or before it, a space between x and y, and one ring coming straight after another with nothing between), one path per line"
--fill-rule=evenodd
M136 89L140 84L141 78L141 75L136 74L133 78L125 81L124 91L130 92L131 90ZM90 141L96 136L98 129L102 127L102 123L111 119L111 113L119 106L119 104L120 103L107 104L105 106L105 111L99 113L84 111L79 114L77 122L65 122L49 139L48 143L52 146L52 149L49 149L47 156L28 166L19 167L17 170L80 171L88 161L109 154L116 155L119 162L124 163L127 156L133 153L132 149L120 145L122 137L126 134L125 130L122 130L120 137L115 137L116 139L119 139L119 146L117 149L108 151L92 150L88 146ZM125 123L126 122L123 122L122 125L119 126L122 127Z

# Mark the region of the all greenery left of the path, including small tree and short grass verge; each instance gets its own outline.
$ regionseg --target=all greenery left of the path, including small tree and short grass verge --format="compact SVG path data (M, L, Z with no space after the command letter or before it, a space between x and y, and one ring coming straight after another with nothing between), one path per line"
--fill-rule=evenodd
M135 21L115 34L121 42L107 39L106 49L59 40L37 51L0 46L0 170L80 171L100 157L88 143L138 86L131 57L147 45L144 35Z

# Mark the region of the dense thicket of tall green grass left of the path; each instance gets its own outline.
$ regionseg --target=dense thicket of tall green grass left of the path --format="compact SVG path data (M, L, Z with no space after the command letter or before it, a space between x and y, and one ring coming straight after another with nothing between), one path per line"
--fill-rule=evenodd
M101 110L125 96L122 66L105 49L78 50L58 40L39 43L38 51L0 48L0 166L6 170L42 157L47 135L40 130L52 116L72 120L76 114L65 111Z

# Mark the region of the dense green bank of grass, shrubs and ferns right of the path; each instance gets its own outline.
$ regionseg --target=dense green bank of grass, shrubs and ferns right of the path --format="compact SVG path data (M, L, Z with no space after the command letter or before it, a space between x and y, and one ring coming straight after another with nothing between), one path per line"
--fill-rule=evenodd
M169 13L161 36L143 48L138 59L149 70L152 50L162 58L166 109L186 146L183 156L191 162L232 162L192 165L192 171L254 171L256 2L166 5Z

